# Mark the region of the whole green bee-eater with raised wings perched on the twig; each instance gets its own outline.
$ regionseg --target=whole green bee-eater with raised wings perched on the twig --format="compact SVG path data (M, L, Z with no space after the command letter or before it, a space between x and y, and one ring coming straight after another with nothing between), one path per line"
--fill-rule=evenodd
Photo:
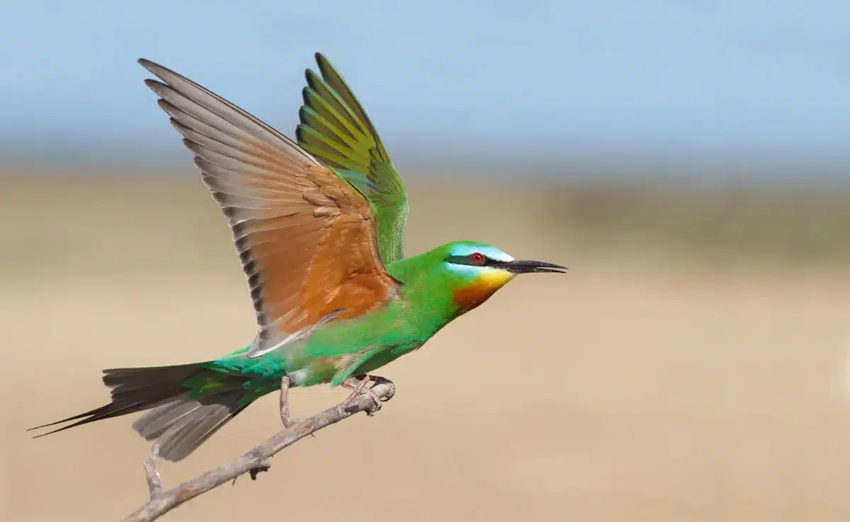
M146 411L133 429L178 462L284 377L363 393L382 379L371 373L519 274L566 271L469 240L405 256L404 182L343 76L323 54L315 59L296 140L138 60L228 219L258 330L250 345L205 362L106 369L109 404L32 428L76 421L37 436Z

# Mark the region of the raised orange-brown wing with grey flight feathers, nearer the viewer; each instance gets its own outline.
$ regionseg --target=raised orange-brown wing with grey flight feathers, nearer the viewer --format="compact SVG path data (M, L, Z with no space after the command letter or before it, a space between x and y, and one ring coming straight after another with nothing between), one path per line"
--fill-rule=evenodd
M371 205L292 140L224 98L140 59L212 197L229 218L259 332L248 356L358 317L396 295Z

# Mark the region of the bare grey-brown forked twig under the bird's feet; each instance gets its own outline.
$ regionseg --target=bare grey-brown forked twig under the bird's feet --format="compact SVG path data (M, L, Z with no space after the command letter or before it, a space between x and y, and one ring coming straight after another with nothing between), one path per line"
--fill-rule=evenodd
M269 438L263 444L255 447L250 452L246 452L241 457L236 457L229 463L224 463L215 469L210 469L206 473L198 475L192 480L187 480L179 486L173 487L170 490L162 491L161 478L156 470L156 446L151 448L150 457L144 460L144 470L148 480L148 490L150 491L150 500L141 508L134 511L124 519L124 522L150 522L161 517L163 514L177 508L183 502L201 495L214 487L221 486L229 480L234 480L241 474L251 474L252 479L256 479L257 474L261 471L269 469L267 460L280 452L287 446L300 441L307 435L312 435L315 431L326 428L331 424L336 424L343 418L348 418L359 412L374 412L379 406L377 401L389 401L395 395L395 385L387 379L376 379L376 383L369 389L371 393L364 393L354 397L353 400L342 402L336 406L329 407L324 412L314 415L310 418L304 418L299 421L288 422L292 424L273 437ZM281 392L288 391L288 382L281 383ZM283 393L286 395L286 393ZM280 418L284 418L284 409L286 407L286 416L289 414L289 408L286 406L286 398L280 398Z

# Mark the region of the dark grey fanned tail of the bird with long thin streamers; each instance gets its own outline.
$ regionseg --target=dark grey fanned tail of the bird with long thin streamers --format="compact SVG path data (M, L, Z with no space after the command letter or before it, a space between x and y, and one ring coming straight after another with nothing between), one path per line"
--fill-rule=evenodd
M263 395L252 393L248 380L244 376L209 370L202 362L104 370L104 384L111 389L110 404L31 429L77 421L37 435L41 437L96 420L150 409L133 424L133 429L145 440L156 441L161 457L177 462Z

